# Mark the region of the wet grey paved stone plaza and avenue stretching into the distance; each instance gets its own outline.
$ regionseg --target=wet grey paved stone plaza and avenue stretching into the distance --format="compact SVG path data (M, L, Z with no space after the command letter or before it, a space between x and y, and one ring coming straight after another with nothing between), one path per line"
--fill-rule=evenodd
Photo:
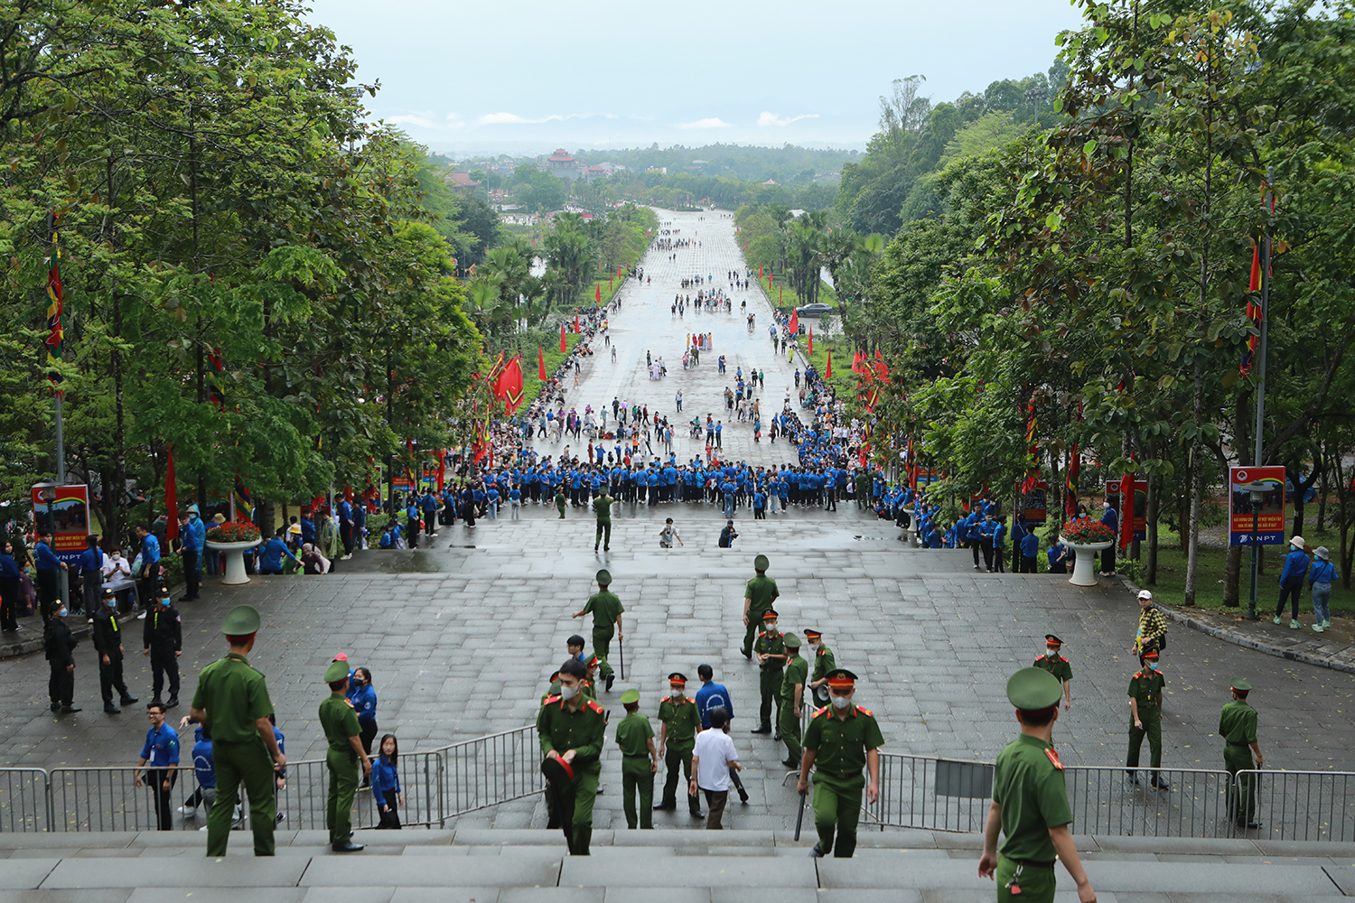
M705 269L718 278L737 265L729 221L694 225L695 214L675 218L683 223L683 237L695 237L691 227L707 240ZM672 393L682 387L684 413L717 410L726 380L715 374L714 356L705 357L696 371L684 372L680 366L683 334L692 326L713 329L715 353L729 355L732 364L766 367L767 395L779 403L789 370L767 351L762 313L752 337L737 314L737 298L733 317L673 321L668 302L675 288L668 280L688 271L663 267L646 260L646 271L656 276L653 287L629 290L612 318L618 357L625 360L612 368L599 349L572 403L581 410L583 403L610 403L617 394L671 412ZM722 279L715 284L724 284ZM646 348L669 361L667 379L645 376ZM690 454L683 441L679 458ZM772 451L766 439L753 445L745 424L726 432L725 448L734 458L766 464L785 460L789 452L780 443ZM686 547L659 548L657 531L667 516L678 521ZM969 552L913 550L900 542L893 524L847 504L836 513L793 509L753 521L740 512L737 520L736 547L720 550L715 537L722 519L713 506L618 505L612 550L595 555L589 513L569 509L558 520L554 509L528 505L522 521L509 521L504 513L499 521L478 521L474 531L458 524L444 528L431 548L360 552L340 562L339 573L329 577L255 578L230 589L210 581L202 601L182 607L184 704L175 716L187 712L198 670L224 653L222 613L249 602L264 616L252 661L268 677L293 759L322 755L316 707L328 690L320 678L337 651L346 651L354 665L371 667L381 730L398 734L405 753L527 724L547 674L565 658L565 638L588 635L589 623L569 615L581 608L593 592L593 573L606 566L627 609L626 680L603 693L602 703L615 720L621 690L635 686L644 695L641 711L653 718L669 671L687 673L695 690L696 666L713 665L715 678L734 696L733 736L749 766L744 780L752 793L749 806L732 807L726 823L779 830L794 819L794 793L782 788L778 765L785 747L747 732L757 705L757 674L737 651L744 581L752 577L753 556L766 552L782 593L783 630L824 631L839 665L860 676L858 701L879 716L886 750L992 759L1016 730L1005 680L1043 650L1043 635L1051 631L1064 638L1076 674L1072 711L1061 716L1054 732L1064 762L1123 762L1125 688L1138 667L1127 650L1138 608L1118 582L1075 589L1053 575L977 574ZM140 627L125 627L127 680L148 701L150 673L140 655ZM76 658L76 704L84 711L73 716L47 711L47 667L41 654L0 662L0 677L9 686L0 718L0 762L136 764L146 730L144 713L134 707L104 715L95 653L84 643ZM619 658L615 651L614 658ZM1256 688L1252 701L1260 711L1267 768L1355 770L1350 754L1355 676L1286 662L1180 627L1172 630L1164 671L1164 766L1221 768L1221 743L1214 735L1218 709L1228 700L1229 680L1241 674ZM600 830L623 824L615 747L604 754L603 780ZM535 800L519 803L486 820L508 827L543 824L535 807ZM661 827L699 826L684 811L660 815L656 824Z

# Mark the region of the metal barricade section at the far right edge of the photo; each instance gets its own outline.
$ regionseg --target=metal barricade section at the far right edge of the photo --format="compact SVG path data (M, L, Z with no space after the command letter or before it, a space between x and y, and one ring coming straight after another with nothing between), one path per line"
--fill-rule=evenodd
M1238 772L1256 795L1259 833L1278 841L1355 841L1355 774ZM1238 829L1241 833L1241 829Z

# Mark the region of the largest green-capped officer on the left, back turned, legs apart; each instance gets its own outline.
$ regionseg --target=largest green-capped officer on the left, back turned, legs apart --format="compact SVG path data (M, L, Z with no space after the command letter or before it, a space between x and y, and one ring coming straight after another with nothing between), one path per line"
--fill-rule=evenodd
M211 761L217 770L217 803L207 814L210 857L226 854L241 783L249 793L255 856L274 854L274 769L285 766L287 757L278 749L268 720L272 715L268 684L247 658L253 650L259 623L259 612L251 605L237 605L226 613L221 632L230 648L225 658L202 669L188 707L187 722L201 722L203 736L211 738Z

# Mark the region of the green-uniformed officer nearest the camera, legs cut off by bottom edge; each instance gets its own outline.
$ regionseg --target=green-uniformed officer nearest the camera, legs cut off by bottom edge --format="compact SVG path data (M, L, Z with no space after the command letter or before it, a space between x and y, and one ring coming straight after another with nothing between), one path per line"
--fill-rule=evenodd
M1007 699L1016 707L1020 736L997 755L993 804L984 829L980 877L997 877L999 903L1051 903L1054 860L1077 881L1077 899L1096 903L1096 891L1073 846L1073 812L1064 785L1064 765L1050 742L1058 720L1062 689L1053 674L1023 667L1007 681ZM1001 831L1001 852L997 834Z

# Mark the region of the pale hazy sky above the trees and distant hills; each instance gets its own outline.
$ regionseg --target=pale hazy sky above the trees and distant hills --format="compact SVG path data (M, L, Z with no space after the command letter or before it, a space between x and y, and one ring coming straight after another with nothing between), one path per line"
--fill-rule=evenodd
M890 81L934 102L1047 70L1069 0L310 0L370 118L450 154L714 142L858 148Z

